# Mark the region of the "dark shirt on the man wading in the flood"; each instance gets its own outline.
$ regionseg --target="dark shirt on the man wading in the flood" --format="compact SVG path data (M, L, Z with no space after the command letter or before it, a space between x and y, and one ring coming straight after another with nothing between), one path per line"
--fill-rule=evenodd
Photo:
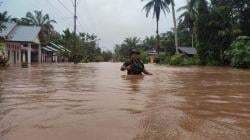
M123 66L131 66L131 69L128 70L128 75L141 75L145 69L143 62L140 59L130 59L126 61Z

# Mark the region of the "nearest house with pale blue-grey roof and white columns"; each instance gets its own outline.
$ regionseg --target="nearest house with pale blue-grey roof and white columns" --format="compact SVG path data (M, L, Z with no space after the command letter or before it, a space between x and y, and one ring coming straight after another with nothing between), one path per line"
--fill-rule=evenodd
M3 44L9 64L21 62L42 62L42 47L39 39L41 27L23 26L16 23L4 23L6 29L0 37L6 38Z

